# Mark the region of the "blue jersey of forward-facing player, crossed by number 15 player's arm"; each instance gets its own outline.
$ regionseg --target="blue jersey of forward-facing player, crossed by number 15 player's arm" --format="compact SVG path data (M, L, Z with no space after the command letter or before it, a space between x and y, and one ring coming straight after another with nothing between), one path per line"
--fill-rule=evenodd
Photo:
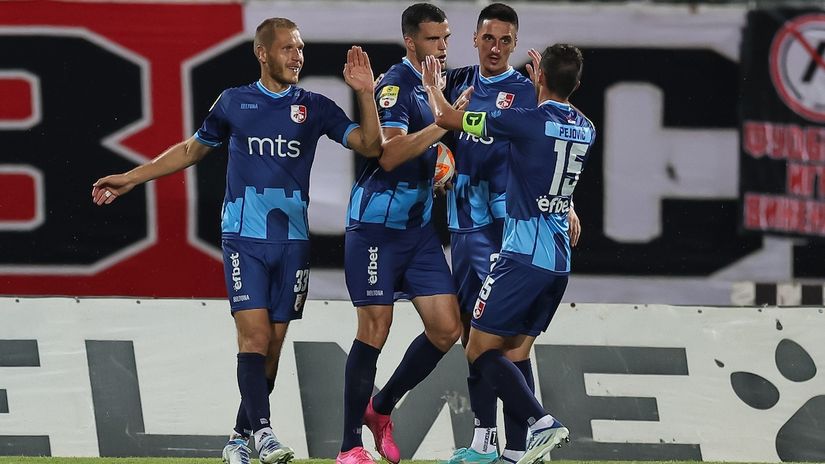
M478 65L447 71L447 96L455 101L467 87L473 94L467 111L534 108L533 83L512 67L484 77ZM510 141L455 134L456 178L447 191L447 225L451 232L471 232L502 221L507 187L507 151Z

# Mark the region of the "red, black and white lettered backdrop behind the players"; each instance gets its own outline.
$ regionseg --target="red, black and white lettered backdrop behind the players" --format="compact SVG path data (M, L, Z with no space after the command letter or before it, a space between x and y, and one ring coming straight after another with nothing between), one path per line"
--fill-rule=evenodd
M221 89L255 80L250 37L269 16L301 27L301 85L354 117L340 77L344 52L364 45L377 73L397 62L404 6L0 3L0 294L221 297L225 153L106 208L92 205L92 182L188 137ZM453 31L450 64L474 63L478 5L442 6ZM767 47L740 47L752 20L745 10L525 4L519 12L514 64L523 66L531 47L582 47L585 74L574 102L600 133L577 190L584 233L568 300L728 304L737 282L821 282L821 231L790 238L776 227L743 227L751 217L741 207L747 192L789 194L754 184L759 172L778 172L756 167L764 156L739 155L740 126L750 134L753 124L786 124L756 116L741 122L748 86L779 98L771 104L799 114L791 124L814 134L812 146L823 144L822 121L781 99L787 86L741 79L751 69L767 72L773 56ZM803 109L821 111L819 29L783 29L794 12L762 14L776 22L765 37L784 34L777 40L790 44L783 63L799 66L799 83L819 89L805 94L811 100ZM812 51L794 45L800 34ZM316 298L346 299L343 218L358 162L331 142L319 145L310 210ZM814 190L804 201L821 203L821 165L805 166L800 175L819 180L805 184Z

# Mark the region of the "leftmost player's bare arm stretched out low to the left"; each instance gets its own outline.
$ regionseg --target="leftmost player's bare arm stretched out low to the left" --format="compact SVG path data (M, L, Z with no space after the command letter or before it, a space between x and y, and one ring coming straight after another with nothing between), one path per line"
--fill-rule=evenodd
M157 158L129 172L98 179L92 184L92 201L97 205L108 205L120 195L128 193L144 182L192 166L202 160L210 150L212 150L211 147L198 142L192 136L188 140L172 145Z

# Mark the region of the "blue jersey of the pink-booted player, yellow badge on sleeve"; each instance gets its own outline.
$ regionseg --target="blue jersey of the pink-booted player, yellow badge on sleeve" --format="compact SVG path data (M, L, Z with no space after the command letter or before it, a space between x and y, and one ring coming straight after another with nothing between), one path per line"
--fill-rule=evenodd
M393 65L375 90L381 127L418 132L433 123L421 73L404 58ZM377 224L390 229L420 229L430 222L436 150L384 171L377 159L368 159L350 195L347 229Z

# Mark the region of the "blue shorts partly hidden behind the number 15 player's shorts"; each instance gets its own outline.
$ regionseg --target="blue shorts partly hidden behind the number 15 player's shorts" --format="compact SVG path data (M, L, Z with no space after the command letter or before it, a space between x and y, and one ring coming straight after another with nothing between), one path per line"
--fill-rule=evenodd
M462 313L471 313L481 290L481 282L498 259L501 250L501 230L494 227L465 233L454 233L450 238L453 280L458 288L458 307Z

